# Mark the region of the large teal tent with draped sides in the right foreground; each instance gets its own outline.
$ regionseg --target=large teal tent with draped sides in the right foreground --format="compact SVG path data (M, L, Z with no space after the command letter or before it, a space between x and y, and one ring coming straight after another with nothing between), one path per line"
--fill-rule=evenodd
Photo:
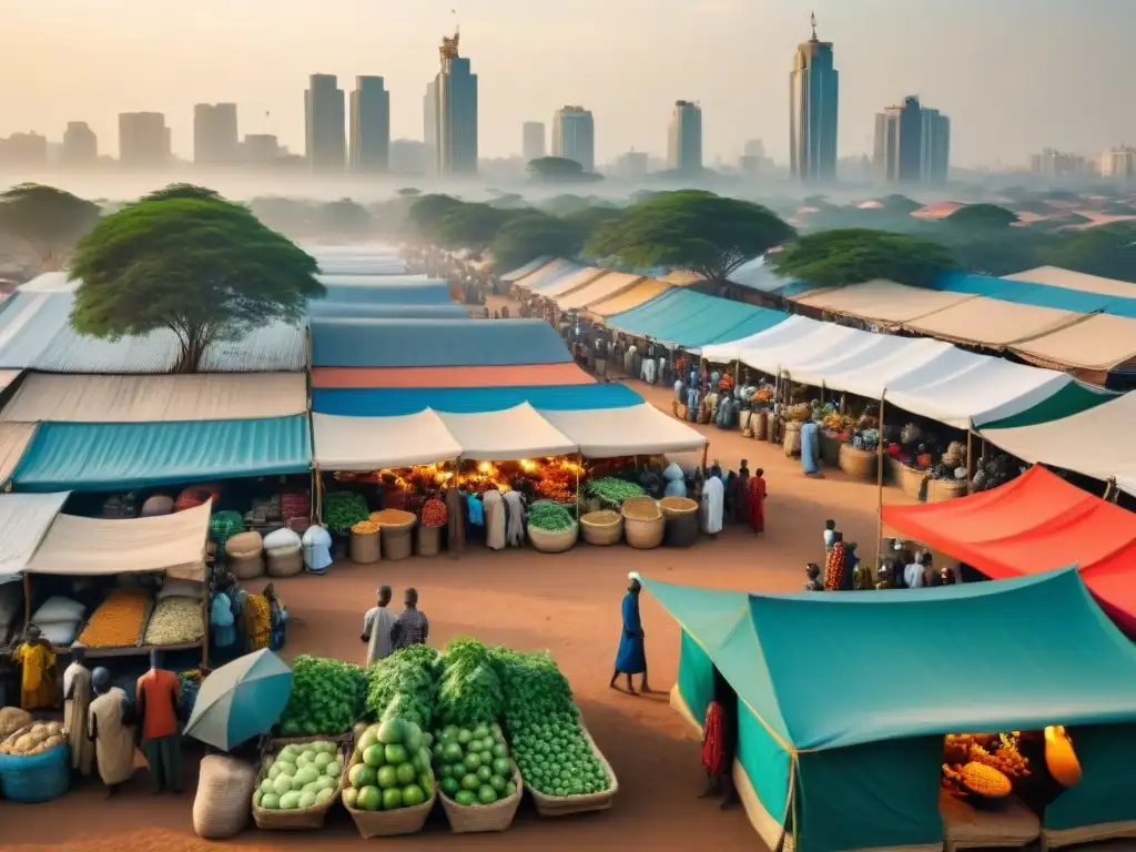
M1049 809L1060 827L1136 820L1136 745L1116 757L1136 740L1136 646L1076 569L895 592L643 584L683 628L679 708L703 717L716 668L737 693L740 788L770 847L941 849L943 736L1049 725L1084 768Z

